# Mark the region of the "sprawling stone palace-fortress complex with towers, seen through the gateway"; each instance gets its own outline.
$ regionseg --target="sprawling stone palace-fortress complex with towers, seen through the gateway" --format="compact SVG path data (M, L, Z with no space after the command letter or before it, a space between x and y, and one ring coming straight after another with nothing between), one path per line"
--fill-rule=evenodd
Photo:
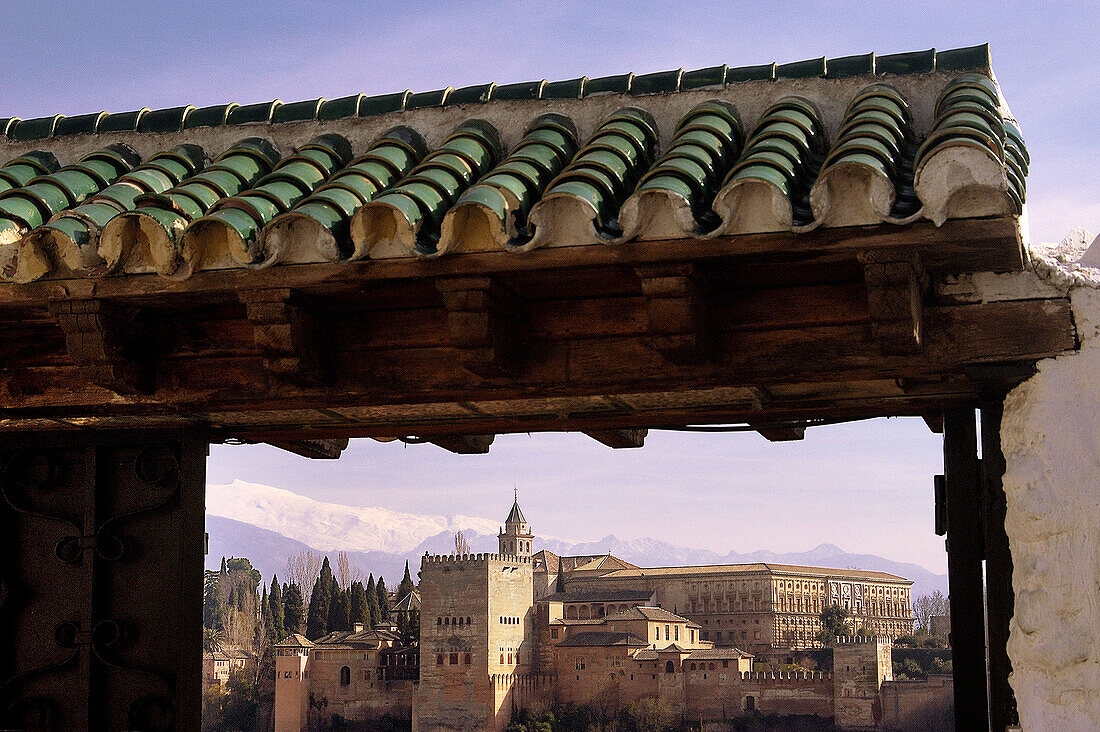
M383 625L279 643L276 731L334 713L411 719L415 732L503 730L517 710L552 700L646 698L685 719L760 710L833 717L848 729L877 723L883 689L895 710L917 691L949 696L943 682L884 686L894 684L891 640L913 629L902 577L778 564L642 568L534 551L534 542L517 500L496 554L425 555L416 647ZM832 673L754 667L821 645L818 614L831 604L867 634L834 646Z

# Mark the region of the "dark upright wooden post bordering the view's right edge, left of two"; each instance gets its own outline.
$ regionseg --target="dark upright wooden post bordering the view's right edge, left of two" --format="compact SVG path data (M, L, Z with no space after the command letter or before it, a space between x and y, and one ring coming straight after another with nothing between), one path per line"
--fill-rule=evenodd
M955 728L989 729L980 485L972 407L944 413L947 576L952 607Z

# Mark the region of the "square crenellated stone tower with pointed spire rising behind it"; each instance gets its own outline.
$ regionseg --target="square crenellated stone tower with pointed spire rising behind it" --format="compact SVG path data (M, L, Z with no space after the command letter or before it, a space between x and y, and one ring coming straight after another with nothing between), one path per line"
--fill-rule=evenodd
M507 726L531 667L531 538L514 503L499 554L425 555L414 732Z

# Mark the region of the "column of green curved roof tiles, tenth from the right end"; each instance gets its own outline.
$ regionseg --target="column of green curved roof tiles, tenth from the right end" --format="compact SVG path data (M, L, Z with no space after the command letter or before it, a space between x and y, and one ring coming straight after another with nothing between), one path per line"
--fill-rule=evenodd
M222 198L235 196L271 172L278 157L268 140L245 138L185 183L163 194L142 196L136 209L103 227L99 255L107 271L156 272L166 277L194 271L194 262L184 261L184 229Z

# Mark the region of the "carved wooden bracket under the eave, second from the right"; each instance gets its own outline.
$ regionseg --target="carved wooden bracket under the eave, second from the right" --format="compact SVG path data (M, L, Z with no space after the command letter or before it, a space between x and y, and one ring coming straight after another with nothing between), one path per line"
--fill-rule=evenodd
M706 298L692 263L645 264L635 269L646 297L649 346L672 363L712 358Z

